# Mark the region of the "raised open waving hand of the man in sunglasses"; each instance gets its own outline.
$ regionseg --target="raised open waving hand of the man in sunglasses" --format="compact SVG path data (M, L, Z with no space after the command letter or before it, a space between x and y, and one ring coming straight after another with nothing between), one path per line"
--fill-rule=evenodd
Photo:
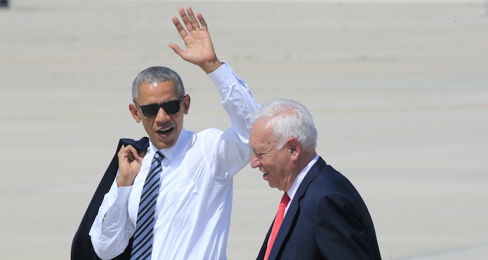
M191 7L187 7L186 12L183 8L179 8L179 13L184 26L177 17L172 19L176 30L185 42L186 50L175 43L169 43L168 46L183 60L201 67L206 74L217 70L222 63L215 55L204 17L201 13L195 16Z

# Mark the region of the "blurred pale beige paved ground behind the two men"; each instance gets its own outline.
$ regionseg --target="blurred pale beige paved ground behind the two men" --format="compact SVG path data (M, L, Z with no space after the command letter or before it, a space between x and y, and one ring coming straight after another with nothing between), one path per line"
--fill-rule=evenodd
M383 259L488 254L487 1L29 1L0 8L0 250L68 259L146 67L178 72L185 128L230 126L199 67L167 47L192 6L256 99L303 102L317 151L358 188ZM255 259L280 192L234 179L228 259Z

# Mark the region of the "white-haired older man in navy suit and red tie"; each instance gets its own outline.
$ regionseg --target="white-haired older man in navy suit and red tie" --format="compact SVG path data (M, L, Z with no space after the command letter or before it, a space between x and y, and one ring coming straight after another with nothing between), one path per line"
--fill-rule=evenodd
M273 99L254 112L251 167L284 192L257 259L381 259L365 202L316 145L298 101Z

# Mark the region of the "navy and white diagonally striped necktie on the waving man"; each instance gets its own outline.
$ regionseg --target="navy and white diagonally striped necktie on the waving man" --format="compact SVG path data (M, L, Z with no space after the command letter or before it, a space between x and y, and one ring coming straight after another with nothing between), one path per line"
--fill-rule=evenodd
M153 251L154 213L159 193L159 180L162 170L161 161L163 158L165 156L159 151L154 154L151 169L147 174L144 187L142 188L130 260L151 259L151 252Z

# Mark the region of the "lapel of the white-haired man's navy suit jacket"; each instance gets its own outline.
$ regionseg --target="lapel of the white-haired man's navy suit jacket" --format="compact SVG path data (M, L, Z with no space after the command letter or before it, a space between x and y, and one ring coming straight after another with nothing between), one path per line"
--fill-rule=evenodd
M273 248L271 249L271 252L269 254L269 259L276 259L278 252L280 252L280 249L283 245L284 239L287 238L287 235L290 232L291 225L293 225L293 222L295 222L296 215L300 207L299 202L300 200L302 200L303 195L305 194L305 190L307 190L310 182L312 182L312 180L317 176L317 174L319 174L319 172L324 167L326 167L326 161L323 161L323 159L319 157L319 160L317 160L312 168L310 168L302 183L300 184L300 186L298 186L298 190L296 191L296 194L293 197L293 200L291 201L291 204L288 208L287 215L284 216L280 231L278 231L278 234L276 235L275 243L273 244ZM271 225L271 227L273 227L273 224ZM266 236L266 241L263 247L265 247L265 245L268 243L269 233L270 231L268 231L268 235Z

